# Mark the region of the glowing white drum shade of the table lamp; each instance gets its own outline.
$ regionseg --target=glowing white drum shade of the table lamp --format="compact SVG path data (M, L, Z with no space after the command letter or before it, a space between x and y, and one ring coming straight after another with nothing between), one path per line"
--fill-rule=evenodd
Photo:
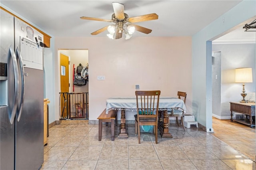
M252 68L237 68L236 83L252 83Z

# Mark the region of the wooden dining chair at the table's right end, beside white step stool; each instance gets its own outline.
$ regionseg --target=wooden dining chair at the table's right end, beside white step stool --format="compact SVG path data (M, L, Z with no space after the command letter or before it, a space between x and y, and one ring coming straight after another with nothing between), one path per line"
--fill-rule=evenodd
M182 99L184 101L184 104L186 104L186 97L187 97L187 93L186 92L182 92L182 91L178 91L178 98ZM180 124L182 123L182 126L184 128L184 130L186 131L185 127L184 127L184 121L183 121L183 115L184 115L184 111L178 110L178 109L173 109L172 111L168 111L168 114L170 117L176 117L176 122L179 125L178 122L178 117L180 118Z

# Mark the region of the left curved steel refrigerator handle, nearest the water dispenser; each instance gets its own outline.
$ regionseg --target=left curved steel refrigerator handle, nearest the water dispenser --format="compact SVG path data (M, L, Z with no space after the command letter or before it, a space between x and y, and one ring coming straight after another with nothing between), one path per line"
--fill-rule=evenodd
M14 118L16 115L17 107L18 107L18 96L19 96L19 71L18 71L18 63L16 59L16 55L14 53L14 50L10 46L9 48L11 56L12 56L12 63L14 67L14 101L13 101L13 107L12 107L12 113L10 115L10 123L12 124L14 122Z

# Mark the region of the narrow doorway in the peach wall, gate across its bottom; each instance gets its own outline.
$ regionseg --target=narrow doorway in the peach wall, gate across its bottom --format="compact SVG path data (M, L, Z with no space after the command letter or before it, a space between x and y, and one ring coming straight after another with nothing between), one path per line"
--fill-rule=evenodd
M63 119L73 119L73 118L88 118L88 106L89 106L89 78L86 79L86 83L83 85L74 85L74 72L77 71L77 67L88 67L88 49L60 49L58 50L59 59L62 60L63 55L69 57L69 76L68 76L68 83L66 83L66 87L68 86L67 92L65 91L64 94L60 93L60 103L61 95L65 95L66 99L66 108L60 105L60 117L63 116ZM60 61L61 67L62 61ZM79 68L80 68L79 67ZM88 72L88 70L87 70ZM61 68L60 68L60 89L62 92L62 80L61 80ZM88 76L87 76L88 77ZM82 93L82 94L81 94ZM80 97L82 96L82 97ZM63 112L63 108L66 110ZM81 116L81 112L83 115ZM67 112L67 114L65 114Z

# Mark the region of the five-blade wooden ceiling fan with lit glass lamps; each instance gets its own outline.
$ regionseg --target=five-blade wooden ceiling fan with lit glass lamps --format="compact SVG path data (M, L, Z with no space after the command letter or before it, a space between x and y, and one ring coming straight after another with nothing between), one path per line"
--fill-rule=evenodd
M118 2L113 2L113 9L114 9L114 14L112 14L112 19L101 19L101 18L92 18L92 17L80 17L83 20L94 20L94 21L104 21L104 22L114 22L115 24L109 25L106 27L101 28L100 30L97 30L95 32L92 32L92 35L97 35L100 34L101 32L104 32L105 30L108 30L109 34L107 36L111 39L114 39L114 34L116 34L115 39L122 38L122 34L124 33L126 35L126 40L131 38L131 35L134 33L134 31L139 31L144 34L149 34L152 32L152 30L138 26L132 23L136 22L143 22L143 21L149 21L149 20L157 20L158 15L153 13L153 14L146 14L142 16L136 16L129 18L129 16L124 13L124 5L120 4Z

